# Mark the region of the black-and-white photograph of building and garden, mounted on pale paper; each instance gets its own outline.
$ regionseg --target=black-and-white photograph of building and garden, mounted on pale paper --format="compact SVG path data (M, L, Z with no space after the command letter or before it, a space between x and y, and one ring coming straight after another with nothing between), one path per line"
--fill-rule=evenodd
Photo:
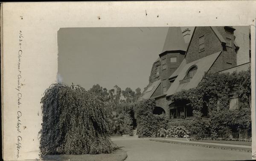
M249 160L250 26L58 30L42 160ZM45 73L47 76L47 73Z

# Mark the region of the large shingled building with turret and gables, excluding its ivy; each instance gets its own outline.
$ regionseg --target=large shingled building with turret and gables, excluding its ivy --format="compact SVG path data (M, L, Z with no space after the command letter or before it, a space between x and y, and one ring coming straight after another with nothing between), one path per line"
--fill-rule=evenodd
M154 98L155 114L164 112L170 120L193 117L192 108L170 101L171 95L198 86L206 72L233 72L250 67L249 27L195 27L191 39L188 31L169 28L142 96ZM207 109L203 115L207 117Z

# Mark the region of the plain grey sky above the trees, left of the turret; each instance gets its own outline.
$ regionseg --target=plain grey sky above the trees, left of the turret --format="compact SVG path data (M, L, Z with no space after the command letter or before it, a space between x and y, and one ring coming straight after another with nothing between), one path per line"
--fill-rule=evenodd
M61 28L58 81L86 90L99 84L143 91L167 31L168 27Z

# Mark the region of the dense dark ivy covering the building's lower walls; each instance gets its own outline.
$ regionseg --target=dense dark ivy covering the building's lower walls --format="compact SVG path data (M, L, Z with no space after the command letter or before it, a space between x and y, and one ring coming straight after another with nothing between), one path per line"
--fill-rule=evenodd
M172 121L169 126L183 125L198 139L229 137L232 130L250 131L250 94L250 69L232 74L207 73L196 88L171 96L174 102L184 102L192 106L193 121ZM239 100L237 110L229 109L232 96ZM209 122L202 119L203 108L208 109Z

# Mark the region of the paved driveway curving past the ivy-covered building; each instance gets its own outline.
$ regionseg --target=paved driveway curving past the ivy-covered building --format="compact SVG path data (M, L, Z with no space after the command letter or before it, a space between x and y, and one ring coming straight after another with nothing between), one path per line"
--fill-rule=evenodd
M250 160L250 152L161 143L149 140L116 140L127 151L125 161Z

